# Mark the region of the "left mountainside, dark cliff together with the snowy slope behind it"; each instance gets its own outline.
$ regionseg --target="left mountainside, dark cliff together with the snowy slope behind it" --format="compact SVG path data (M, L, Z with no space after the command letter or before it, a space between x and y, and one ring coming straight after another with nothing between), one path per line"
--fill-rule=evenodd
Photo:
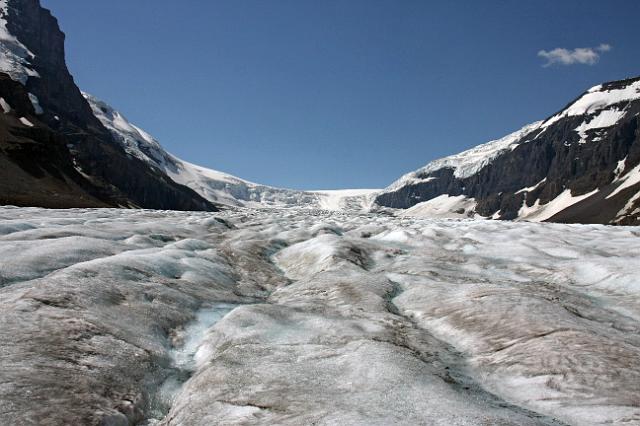
M11 122L2 127L12 135L0 145L0 164L7 165L0 175L3 204L174 210L220 204L366 210L371 204L373 190L274 188L176 158L114 108L79 90L65 64L64 38L38 0L0 0L0 71L22 86L0 95L7 105L28 98L20 112L32 125L25 130L17 110L0 117ZM34 146L40 150L35 156L29 154ZM55 173L43 175L43 163Z

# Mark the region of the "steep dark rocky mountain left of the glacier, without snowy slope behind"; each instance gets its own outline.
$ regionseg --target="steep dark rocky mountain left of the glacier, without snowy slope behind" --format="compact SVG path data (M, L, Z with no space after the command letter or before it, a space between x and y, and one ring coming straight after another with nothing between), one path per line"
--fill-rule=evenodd
M192 189L122 149L75 85L64 40L57 20L39 0L0 0L2 97L8 106L22 105L19 112L30 123L17 123L15 111L2 117L0 163L6 167L0 177L3 188L12 189L2 191L2 203L216 210ZM7 77L22 88L6 82ZM36 156L29 154L34 149ZM46 159L52 165L43 171Z

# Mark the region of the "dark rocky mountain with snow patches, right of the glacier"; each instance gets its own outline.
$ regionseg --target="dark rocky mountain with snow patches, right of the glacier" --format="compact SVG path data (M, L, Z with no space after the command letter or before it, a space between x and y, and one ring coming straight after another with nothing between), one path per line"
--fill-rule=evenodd
M640 224L640 77L433 161L377 195L404 215Z

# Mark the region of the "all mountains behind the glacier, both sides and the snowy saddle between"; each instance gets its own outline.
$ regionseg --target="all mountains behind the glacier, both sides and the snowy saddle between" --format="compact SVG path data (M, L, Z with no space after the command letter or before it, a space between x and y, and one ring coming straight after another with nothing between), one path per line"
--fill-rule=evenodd
M67 188L81 200L67 197L68 204L55 205L92 200L176 210L228 205L612 224L640 220L639 77L594 86L545 120L432 161L383 190L300 191L249 182L168 153L117 110L80 91L65 63L64 41L39 0L0 0L0 71L24 88L0 93L7 110L1 118L12 134L24 136L24 128L35 127L31 132L55 135L55 167L48 178L57 189L48 191ZM14 117L11 104L24 99L31 104L27 116ZM5 186L16 181L16 188L25 188L14 201L2 202L48 205L41 198L29 201L28 188L41 178L33 170L40 166L25 163L24 155L22 163L15 161L20 149L35 146L27 142L35 141L16 139L10 150L0 151L3 162L22 170L18 178L5 168Z

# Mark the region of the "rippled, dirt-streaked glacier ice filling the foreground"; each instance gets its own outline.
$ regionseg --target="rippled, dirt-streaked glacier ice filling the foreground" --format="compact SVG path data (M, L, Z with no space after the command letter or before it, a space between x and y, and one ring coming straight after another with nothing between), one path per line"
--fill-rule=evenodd
M640 424L640 229L0 208L0 424Z

